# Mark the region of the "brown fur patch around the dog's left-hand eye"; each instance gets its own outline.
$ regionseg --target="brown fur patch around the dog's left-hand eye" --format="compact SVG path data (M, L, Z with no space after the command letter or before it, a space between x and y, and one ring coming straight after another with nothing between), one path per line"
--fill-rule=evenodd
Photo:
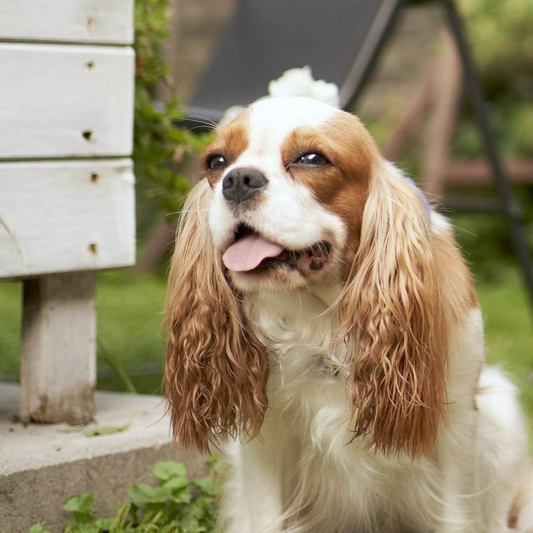
M228 165L236 161L248 147L248 116L246 109L226 128L218 132L217 138L209 144L201 156L202 168L207 180L212 187L224 173L225 166L217 170L210 170L209 160L212 156L224 156Z

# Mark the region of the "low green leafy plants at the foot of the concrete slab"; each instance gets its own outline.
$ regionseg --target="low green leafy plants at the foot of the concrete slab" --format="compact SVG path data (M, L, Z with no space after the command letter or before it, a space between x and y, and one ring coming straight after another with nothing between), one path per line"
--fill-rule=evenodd
M217 495L224 464L208 459L210 474L189 480L187 467L177 461L154 465L156 485L134 483L128 489L130 501L112 518L96 518L94 495L90 492L67 499L63 504L72 518L65 533L208 533L215 527ZM40 524L29 533L47 532Z

